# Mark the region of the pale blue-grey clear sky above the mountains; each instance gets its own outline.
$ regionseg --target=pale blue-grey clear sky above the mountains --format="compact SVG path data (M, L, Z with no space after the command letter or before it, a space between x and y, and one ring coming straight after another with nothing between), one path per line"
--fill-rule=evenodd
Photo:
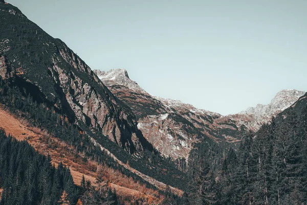
M7 0L92 69L221 114L307 90L306 0Z

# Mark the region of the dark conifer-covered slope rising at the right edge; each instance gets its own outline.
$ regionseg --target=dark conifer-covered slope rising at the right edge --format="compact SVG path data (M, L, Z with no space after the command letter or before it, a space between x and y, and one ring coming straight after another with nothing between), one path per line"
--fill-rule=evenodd
M299 94L283 90L277 97L282 102L284 93L289 92ZM210 190L211 198L215 196L221 204L229 201L234 204L305 204L306 119L307 94L304 94L277 114L271 124L245 136L236 152L228 150L222 159L223 169L215 175L217 189ZM187 195L190 204L199 198L191 197L192 192Z

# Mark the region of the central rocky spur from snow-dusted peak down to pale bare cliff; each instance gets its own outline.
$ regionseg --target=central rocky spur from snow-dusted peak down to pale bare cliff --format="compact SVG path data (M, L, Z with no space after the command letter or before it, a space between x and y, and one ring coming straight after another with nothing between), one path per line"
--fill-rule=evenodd
M125 70L94 71L108 88L135 113L138 129L162 154L185 157L199 131L176 110L167 108L159 99L145 92L129 79Z

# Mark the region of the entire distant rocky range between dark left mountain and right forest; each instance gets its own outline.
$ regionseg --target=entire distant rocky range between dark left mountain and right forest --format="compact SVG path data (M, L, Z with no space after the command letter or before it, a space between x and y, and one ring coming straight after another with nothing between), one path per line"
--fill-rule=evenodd
M257 131L304 94L302 91L283 90L269 105L222 116L179 100L152 96L131 80L124 69L94 72L133 110L139 130L153 147L173 158L188 157L195 142L215 141L225 146L237 146L244 134Z

